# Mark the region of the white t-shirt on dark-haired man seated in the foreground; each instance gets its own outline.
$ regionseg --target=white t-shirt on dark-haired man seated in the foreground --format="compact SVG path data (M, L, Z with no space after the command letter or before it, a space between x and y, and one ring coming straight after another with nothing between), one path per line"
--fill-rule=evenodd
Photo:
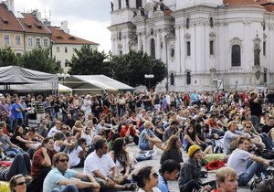
M111 159L111 155L102 155L101 158L96 154L96 151L87 156L84 164L84 173L94 176L94 171L100 170L104 176L108 176L112 167L115 164Z

